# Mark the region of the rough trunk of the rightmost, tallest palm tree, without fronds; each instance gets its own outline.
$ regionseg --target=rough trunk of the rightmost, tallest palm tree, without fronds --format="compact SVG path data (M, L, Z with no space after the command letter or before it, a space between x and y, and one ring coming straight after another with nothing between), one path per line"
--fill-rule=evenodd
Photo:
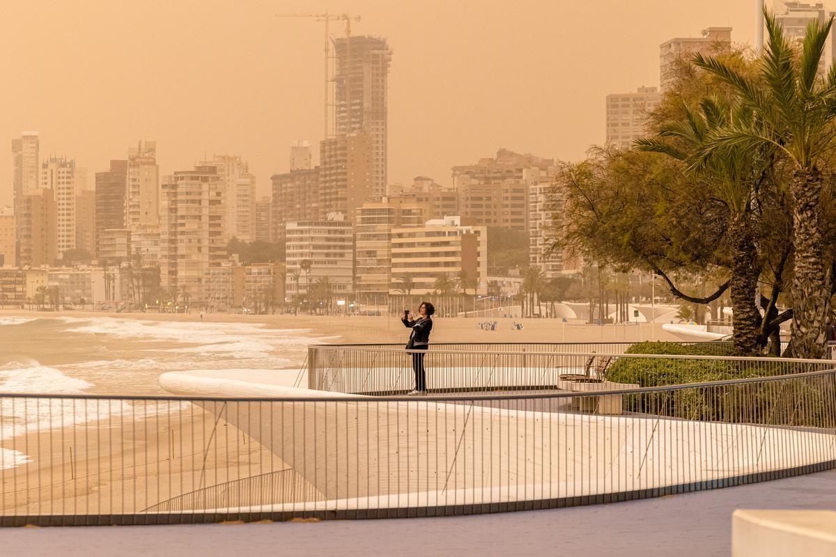
M822 357L830 312L830 266L824 261L821 198L823 180L818 169L793 174L793 327L795 357Z

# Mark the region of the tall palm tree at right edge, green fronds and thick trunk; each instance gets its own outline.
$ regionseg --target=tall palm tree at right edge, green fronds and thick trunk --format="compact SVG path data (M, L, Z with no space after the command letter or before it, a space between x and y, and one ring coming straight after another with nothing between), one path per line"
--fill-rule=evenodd
M830 306L830 266L823 235L822 169L836 136L836 67L818 77L819 62L833 18L808 24L800 57L780 23L764 9L769 41L758 79L747 78L716 58L697 54L694 63L730 85L752 118L730 122L710 134L703 146L706 158L740 148L757 153L774 149L788 160L793 174L793 327L792 352L821 357Z

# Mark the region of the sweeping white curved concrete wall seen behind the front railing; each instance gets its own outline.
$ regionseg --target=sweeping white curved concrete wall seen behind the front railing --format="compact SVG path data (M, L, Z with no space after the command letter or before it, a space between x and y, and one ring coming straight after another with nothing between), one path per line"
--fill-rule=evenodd
M780 477L836 459L836 436L817 431L563 413L545 404L532 411L421 398L341 402L333 399L348 396L284 387L268 372L170 372L161 384L206 397L332 399L195 402L318 489L324 501L314 508L652 496Z

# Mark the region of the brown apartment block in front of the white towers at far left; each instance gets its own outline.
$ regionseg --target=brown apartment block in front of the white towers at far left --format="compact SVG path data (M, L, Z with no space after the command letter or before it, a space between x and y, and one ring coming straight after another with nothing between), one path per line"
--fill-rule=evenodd
M58 256L58 210L54 190L24 195L18 219L18 266L54 265Z

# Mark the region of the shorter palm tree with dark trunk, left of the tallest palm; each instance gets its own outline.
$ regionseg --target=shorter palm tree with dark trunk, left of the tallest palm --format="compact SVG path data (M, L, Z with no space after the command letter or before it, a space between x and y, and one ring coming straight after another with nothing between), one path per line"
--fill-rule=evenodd
M752 110L745 104L729 104L725 99L703 99L700 109L684 106L682 118L660 127L657 137L640 139L638 148L666 154L686 165L691 173L711 185L712 195L729 212L727 237L732 251L730 294L734 307L733 338L741 355L758 352L766 345L762 338L761 313L756 303L757 281L761 276L762 259L755 244L754 227L757 216L757 191L769 164L772 146L761 144L757 151L742 144L728 144L705 154L706 142L712 134L722 133L727 126L746 123Z

